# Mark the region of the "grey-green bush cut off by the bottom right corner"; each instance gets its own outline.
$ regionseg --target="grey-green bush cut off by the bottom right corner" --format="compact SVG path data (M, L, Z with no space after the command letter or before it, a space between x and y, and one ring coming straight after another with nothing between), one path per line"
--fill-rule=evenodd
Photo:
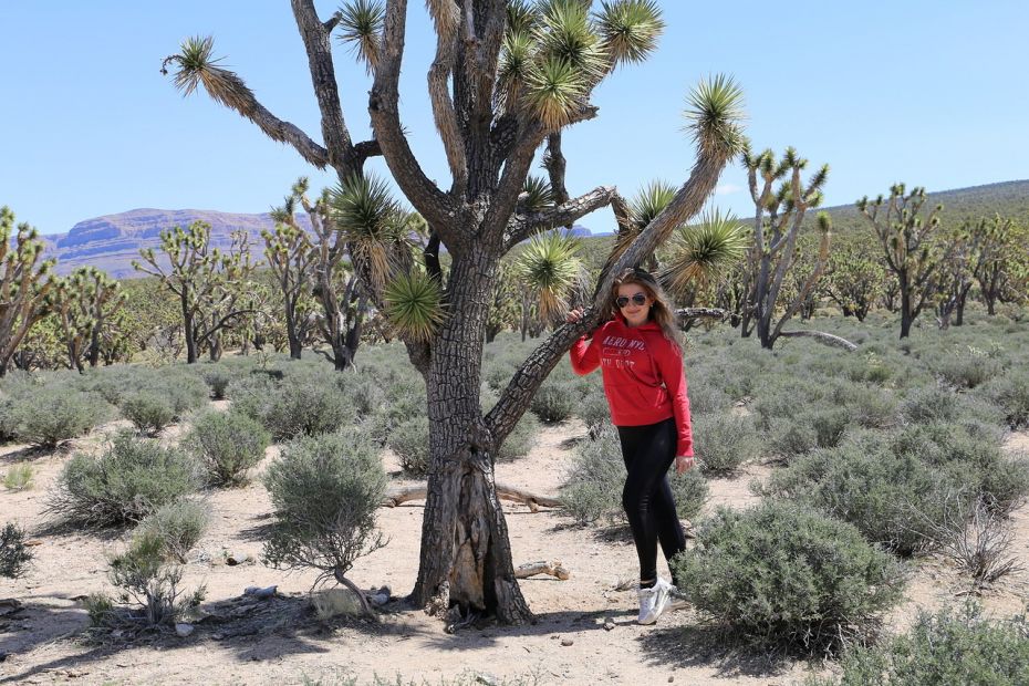
M1026 615L986 620L976 603L921 612L906 633L848 651L840 667L839 676L812 677L804 686L1029 684L1029 622Z

